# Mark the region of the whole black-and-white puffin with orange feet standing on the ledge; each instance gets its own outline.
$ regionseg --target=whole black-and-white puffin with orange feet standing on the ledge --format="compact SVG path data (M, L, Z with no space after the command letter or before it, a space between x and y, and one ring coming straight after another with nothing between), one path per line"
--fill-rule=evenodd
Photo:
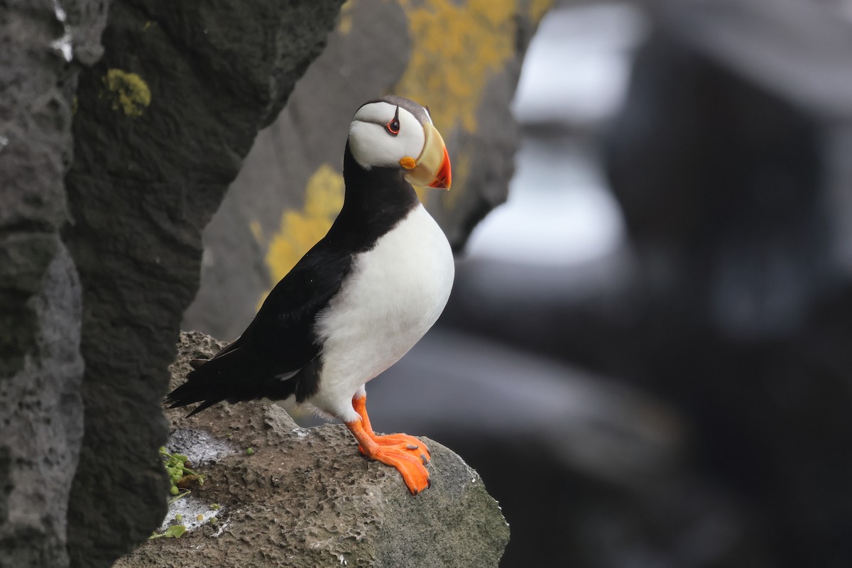
M239 339L194 359L171 408L295 399L348 427L368 458L398 469L412 494L430 485L429 450L373 432L366 383L435 324L455 273L444 232L414 186L449 189L450 158L429 110L400 96L355 112L343 153L343 208L329 232L269 293Z

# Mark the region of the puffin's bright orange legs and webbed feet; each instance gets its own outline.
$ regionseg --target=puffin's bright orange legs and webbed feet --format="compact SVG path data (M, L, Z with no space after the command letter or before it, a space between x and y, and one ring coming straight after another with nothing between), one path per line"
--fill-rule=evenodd
M379 436L373 432L370 417L366 411L366 397L352 399L354 410L360 420L347 422L349 431L358 440L358 449L365 456L396 468L408 485L408 490L417 495L431 482L426 463L429 462L429 450L417 438L406 434Z

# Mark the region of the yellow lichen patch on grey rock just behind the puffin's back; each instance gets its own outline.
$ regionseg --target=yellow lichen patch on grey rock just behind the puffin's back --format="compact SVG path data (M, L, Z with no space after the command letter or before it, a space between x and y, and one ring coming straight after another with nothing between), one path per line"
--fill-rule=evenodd
M281 227L269 241L266 265L273 284L284 278L296 262L331 228L343 207L343 175L331 164L322 164L305 186L305 206L301 211L285 209ZM259 227L253 227L256 232ZM268 295L258 301L260 307Z

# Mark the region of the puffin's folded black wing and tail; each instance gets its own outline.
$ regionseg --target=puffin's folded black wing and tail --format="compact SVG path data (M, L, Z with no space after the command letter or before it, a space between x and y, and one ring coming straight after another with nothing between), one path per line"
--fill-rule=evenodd
M202 402L192 416L222 400L310 396L320 367L314 320L340 290L351 265L351 254L329 250L320 241L275 285L239 339L209 361L193 360L187 382L166 402L171 408Z

